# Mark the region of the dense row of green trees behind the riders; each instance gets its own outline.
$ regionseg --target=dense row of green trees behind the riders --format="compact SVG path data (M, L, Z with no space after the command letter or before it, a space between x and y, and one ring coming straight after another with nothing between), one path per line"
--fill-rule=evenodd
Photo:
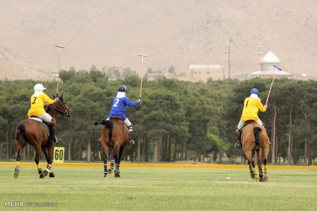
M130 71L130 70L129 70ZM131 101L139 98L140 78L136 74L110 80L98 70L62 70L59 94L73 110L71 118L58 121L56 146L65 147L65 160L101 161L101 126L118 87L128 89ZM123 160L132 162L175 162L192 160L210 163L245 163L236 142L235 125L242 113L241 101L257 88L265 103L272 78L246 81L227 79L191 83L157 77L142 83L141 105L127 107L126 116L134 126L137 145L127 146ZM15 159L14 133L17 123L27 118L30 97L36 83L53 98L57 82L0 82L1 159ZM287 78L276 79L266 112L259 112L270 138L270 163L313 165L317 156L317 83ZM43 156L42 156L43 157ZM22 159L34 159L27 145ZM43 159L43 158L42 158Z

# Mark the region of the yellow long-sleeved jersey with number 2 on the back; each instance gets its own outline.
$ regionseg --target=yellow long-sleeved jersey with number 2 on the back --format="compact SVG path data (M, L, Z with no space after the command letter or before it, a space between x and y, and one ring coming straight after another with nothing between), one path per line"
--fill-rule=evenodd
M37 97L31 96L31 108L28 112L29 116L40 116L45 113L44 110L44 102L49 104L53 104L54 100L52 100L47 94L42 93Z

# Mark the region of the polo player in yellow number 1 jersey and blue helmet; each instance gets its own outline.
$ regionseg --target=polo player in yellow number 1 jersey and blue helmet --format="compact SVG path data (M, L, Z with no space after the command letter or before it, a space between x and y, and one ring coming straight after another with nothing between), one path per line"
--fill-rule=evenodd
M239 139L239 134L246 120L249 120L249 119L254 120L257 124L262 125L264 127L262 121L258 117L258 112L259 110L261 112L265 112L267 109L267 105L263 106L263 104L261 103L261 99L259 98L258 95L259 95L259 91L256 88L254 88L251 90L250 97L247 97L244 100L241 119L236 131L238 142L235 144L235 148L242 147L242 143Z

